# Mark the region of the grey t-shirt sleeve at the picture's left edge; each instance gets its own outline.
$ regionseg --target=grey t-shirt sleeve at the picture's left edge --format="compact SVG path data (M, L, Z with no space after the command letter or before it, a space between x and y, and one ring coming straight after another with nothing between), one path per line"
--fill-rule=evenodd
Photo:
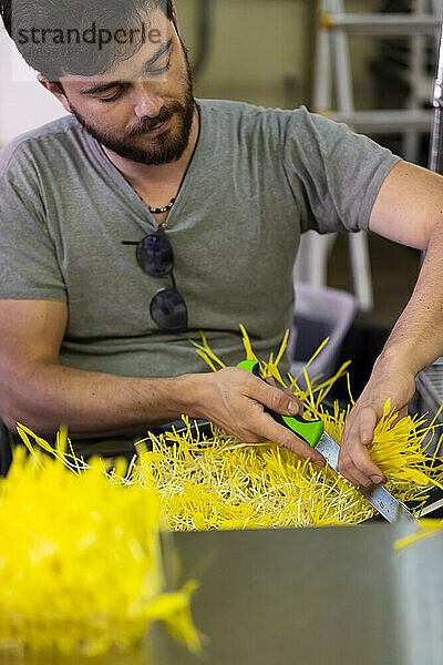
M38 174L17 153L0 162L0 299L66 301Z

